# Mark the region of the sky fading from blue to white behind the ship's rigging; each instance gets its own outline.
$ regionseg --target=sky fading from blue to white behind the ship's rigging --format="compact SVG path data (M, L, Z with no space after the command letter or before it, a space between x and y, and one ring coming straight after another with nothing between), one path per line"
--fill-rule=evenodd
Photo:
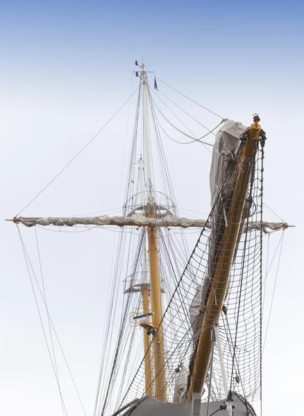
M162 80L225 118L249 124L254 112L260 114L267 132L264 202L296 225L285 232L264 349L263 413L273 413L275 403L278 416L298 411L289 398L301 397L304 370L303 15L301 0L0 3L1 414L61 412L19 236L4 218L25 207L126 101L137 87L134 61L142 59ZM216 119L187 105L214 127ZM128 106L120 116L23 216L121 207ZM207 213L210 154L199 144L168 139L164 146L180 208ZM278 220L272 211L265 209L265 216ZM22 229L33 253L34 233ZM49 307L92 415L117 236L106 230L59 234L38 230ZM267 311L274 278L267 282ZM72 389L65 395L71 414L82 415Z

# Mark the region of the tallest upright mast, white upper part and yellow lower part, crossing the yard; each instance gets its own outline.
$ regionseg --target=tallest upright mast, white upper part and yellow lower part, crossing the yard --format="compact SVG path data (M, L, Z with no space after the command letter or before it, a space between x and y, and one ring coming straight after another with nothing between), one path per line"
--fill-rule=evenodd
M146 162L146 186L148 188L147 213L148 218L155 218L155 203L153 200L153 180L152 180L152 157L151 157L151 135L149 126L148 94L146 83L146 69L142 64L141 83L142 83L142 112L144 127L144 150ZM154 358L154 378L155 378L155 399L167 401L166 374L164 369L164 340L162 336L162 300L160 289L160 273L158 265L158 240L155 227L148 227L149 239L149 266L150 266L150 292L151 310L153 312L152 324L158 327L153 337L153 358Z

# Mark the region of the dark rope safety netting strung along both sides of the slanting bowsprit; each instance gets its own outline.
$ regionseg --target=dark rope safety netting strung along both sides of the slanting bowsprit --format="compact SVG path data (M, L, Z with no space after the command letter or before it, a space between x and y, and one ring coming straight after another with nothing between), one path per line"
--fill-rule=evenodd
M259 146L255 150L255 164L248 187L246 217L249 220L262 222L261 195L264 150ZM235 158L235 161L237 158ZM235 164L223 178L221 191L217 193L210 218L217 217L215 232L204 227L194 251L178 281L176 290L164 312L162 330L165 338L165 367L168 401L183 402L187 398L189 374L194 361L198 333L197 322L204 313L204 303L194 307L197 297L203 299L203 291L210 276L210 252L216 257L219 241L226 226L225 209L219 210L223 200L227 200L233 180ZM241 163L241 162L239 162ZM246 159L243 163L246 163ZM238 166L242 168L242 166ZM243 225L244 225L243 224ZM212 248L213 247L213 248ZM262 227L260 232L247 229L242 234L233 267L230 271L228 291L223 294L226 299L219 320L219 332L223 349L223 358L230 390L238 391L248 401L260 399L261 385L261 300L262 300ZM208 289L207 289L208 290ZM196 314L194 313L196 309ZM153 346L150 345L153 356ZM212 400L224 399L221 368L217 347L214 349L214 363L210 383ZM155 374L157 377L157 374ZM207 381L208 384L208 381ZM133 381L126 392L121 405L135 398L142 398L144 389L144 361L138 368Z

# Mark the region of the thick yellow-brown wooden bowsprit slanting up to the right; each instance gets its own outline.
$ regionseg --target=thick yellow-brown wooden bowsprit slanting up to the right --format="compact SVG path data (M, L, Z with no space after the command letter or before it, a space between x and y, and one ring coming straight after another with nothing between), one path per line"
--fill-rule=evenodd
M187 392L187 402L192 402L193 393L202 393L203 386L208 374L211 354L211 331L212 325L217 324L219 315L226 296L230 270L233 265L235 250L240 238L240 227L244 215L248 183L251 177L254 162L253 142L258 141L260 134L264 134L258 124L260 119L256 116L254 123L244 133L248 135L244 148L239 153L237 171L235 173L235 184L233 195L230 199L230 209L227 215L227 226L224 230L223 239L219 249L217 262L214 266L212 283L205 313L199 322L199 342L194 357L194 363L190 372L190 380Z

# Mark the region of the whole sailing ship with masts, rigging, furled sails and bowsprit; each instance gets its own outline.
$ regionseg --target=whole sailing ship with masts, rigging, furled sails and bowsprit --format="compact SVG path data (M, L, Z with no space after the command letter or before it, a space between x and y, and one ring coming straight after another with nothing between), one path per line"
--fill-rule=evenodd
M201 106L221 119L209 129L176 104L208 130L198 138L181 122L188 135L155 103L149 71L144 64L135 64L140 67L135 72L140 86L122 215L18 215L12 221L18 230L19 224L119 227L94 416L151 415L154 409L160 415L211 416L219 410L231 416L255 415L252 403L262 399L262 239L289 227L263 218L266 135L260 117L254 114L247 128ZM154 89L158 95L156 78ZM167 103L174 103L163 96ZM208 218L178 214L161 132L170 135L159 117L192 139L187 143L199 141L205 146L201 139L215 135ZM137 233L128 234L129 227ZM178 238L172 232L189 227L201 230L190 255L185 235ZM22 247L25 250L23 241ZM118 320L122 280L124 298ZM62 397L61 401L65 415Z

